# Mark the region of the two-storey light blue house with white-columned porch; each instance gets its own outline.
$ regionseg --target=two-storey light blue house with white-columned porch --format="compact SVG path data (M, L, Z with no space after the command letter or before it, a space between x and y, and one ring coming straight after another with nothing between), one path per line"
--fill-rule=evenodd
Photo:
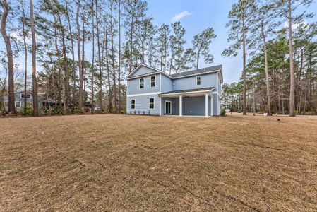
M140 64L126 77L128 114L220 114L222 66L169 75Z

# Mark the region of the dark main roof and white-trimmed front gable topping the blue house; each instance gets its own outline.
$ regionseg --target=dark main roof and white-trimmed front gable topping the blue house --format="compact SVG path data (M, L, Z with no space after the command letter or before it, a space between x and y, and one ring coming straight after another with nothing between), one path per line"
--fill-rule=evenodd
M168 76L169 78L184 78L184 77L189 77L189 76L196 76L199 74L205 74L205 73L213 73L213 72L218 72L219 76L220 76L220 81L221 83L223 82L223 78L222 78L222 65L218 65L218 66L209 66L203 69L196 69L196 70L192 70L192 71L184 71L181 73L174 73L174 74L167 74L164 71L161 71L160 69L155 69L154 67L151 66L147 66L145 64L140 64L136 67L136 69L134 69L131 73L128 74L128 76L126 76L126 79L130 79L130 78L138 78L140 76L147 76L147 75L151 75L153 73L147 73L147 74L143 74L140 76L133 76L133 73L136 73L136 71L138 71L138 69L140 69L142 66L147 67L148 69L152 69L153 73L162 73L165 76Z

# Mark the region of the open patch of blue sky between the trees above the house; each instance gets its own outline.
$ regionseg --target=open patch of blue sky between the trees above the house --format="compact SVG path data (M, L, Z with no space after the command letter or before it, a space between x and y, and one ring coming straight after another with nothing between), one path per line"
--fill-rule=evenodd
M228 30L225 27L227 15L232 8L233 0L148 0L148 15L154 18L156 25L171 23L172 17L186 11L189 16L181 18L181 25L186 29L186 47L191 47L193 35L200 33L205 28L213 27L217 38L210 46L215 59L212 65L222 64L225 83L239 81L242 70L241 54L237 57L222 57L222 51L229 46L227 43ZM309 11L317 8L317 3L311 4ZM309 20L317 21L317 18ZM200 67L209 66L201 62Z

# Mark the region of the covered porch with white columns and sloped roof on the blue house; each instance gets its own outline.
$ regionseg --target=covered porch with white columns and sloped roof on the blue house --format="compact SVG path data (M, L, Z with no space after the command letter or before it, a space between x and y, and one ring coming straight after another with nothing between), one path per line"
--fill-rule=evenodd
M213 116L213 87L161 93L160 115Z

